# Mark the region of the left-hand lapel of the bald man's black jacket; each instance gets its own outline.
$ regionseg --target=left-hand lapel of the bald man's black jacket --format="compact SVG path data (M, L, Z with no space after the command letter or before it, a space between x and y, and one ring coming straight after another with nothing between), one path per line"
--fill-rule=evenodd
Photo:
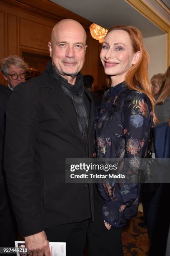
M72 111L72 101L67 97L67 95L65 95L60 85L58 84L58 81L51 77L46 70L42 73L41 80L42 86L47 88L52 98L55 100L55 102L57 102L65 116L70 121L72 128L76 133L80 133L77 123L77 115L75 111Z

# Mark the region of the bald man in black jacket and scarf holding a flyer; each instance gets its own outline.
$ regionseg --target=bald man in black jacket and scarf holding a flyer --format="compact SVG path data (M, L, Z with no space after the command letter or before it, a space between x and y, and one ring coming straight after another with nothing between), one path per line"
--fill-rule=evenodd
M51 61L40 77L20 83L7 105L5 172L20 234L32 255L66 242L82 256L92 187L65 183L65 159L92 157L93 102L83 87L86 33L75 20L52 29Z

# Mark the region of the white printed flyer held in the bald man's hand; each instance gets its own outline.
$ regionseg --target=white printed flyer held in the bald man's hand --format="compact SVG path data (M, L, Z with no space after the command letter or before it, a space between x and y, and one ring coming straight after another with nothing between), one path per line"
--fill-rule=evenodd
M51 256L66 256L66 243L61 242L50 242ZM17 256L26 256L25 242L15 241L15 248L17 248Z

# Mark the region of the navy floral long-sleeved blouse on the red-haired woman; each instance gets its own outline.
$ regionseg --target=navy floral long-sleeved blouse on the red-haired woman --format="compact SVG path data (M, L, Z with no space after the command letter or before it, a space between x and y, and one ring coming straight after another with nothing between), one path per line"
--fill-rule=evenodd
M153 121L147 95L128 89L122 82L105 92L95 115L96 158L128 158L136 163L145 157ZM128 172L131 174L132 169ZM139 184L107 179L97 187L106 202L102 208L106 223L120 228L125 225L125 219L136 215Z

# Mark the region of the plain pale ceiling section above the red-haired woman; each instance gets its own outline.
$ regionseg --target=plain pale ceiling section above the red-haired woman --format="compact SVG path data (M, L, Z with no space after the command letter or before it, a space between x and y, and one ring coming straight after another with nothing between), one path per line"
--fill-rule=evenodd
M114 25L132 25L140 29L144 38L165 34L125 0L51 1L104 28Z

